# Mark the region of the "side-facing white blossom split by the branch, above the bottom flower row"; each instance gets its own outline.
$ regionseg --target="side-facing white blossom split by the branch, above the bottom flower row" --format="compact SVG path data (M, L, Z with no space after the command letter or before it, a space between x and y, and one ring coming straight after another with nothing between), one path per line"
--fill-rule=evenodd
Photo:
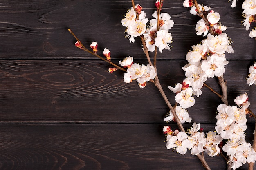
M179 117L180 123L184 124L185 122L191 122L192 118L189 117L189 113L184 108L176 106L175 112ZM168 117L164 118L164 121L170 122L173 120L173 117L173 113L170 111Z

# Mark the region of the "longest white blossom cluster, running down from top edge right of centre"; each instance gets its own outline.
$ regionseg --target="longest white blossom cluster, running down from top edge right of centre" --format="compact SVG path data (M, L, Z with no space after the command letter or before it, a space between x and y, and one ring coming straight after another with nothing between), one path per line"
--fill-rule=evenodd
M185 3L186 2L186 3ZM190 2L190 1L189 1ZM187 1L184 1L187 5ZM191 3L189 3L191 4ZM210 7L202 7L199 5L204 13L209 11ZM191 8L191 13L195 14L195 6ZM198 35L204 33L207 38L202 40L200 44L193 45L192 51L189 51L186 55L186 60L189 64L186 64L182 69L185 72L186 79L182 84L178 83L175 87L169 86L168 88L176 93L175 100L180 104L182 108L188 108L195 104L195 99L192 95L199 97L202 94L201 88L207 78L213 78L215 76L220 77L224 74L224 66L228 64L225 58L225 52L234 53L232 42L226 33L222 33L226 27L221 26L218 22L220 15L214 11L209 11L207 14L208 22L214 29L216 35L208 34L210 29L206 22L201 19L198 21L196 31Z

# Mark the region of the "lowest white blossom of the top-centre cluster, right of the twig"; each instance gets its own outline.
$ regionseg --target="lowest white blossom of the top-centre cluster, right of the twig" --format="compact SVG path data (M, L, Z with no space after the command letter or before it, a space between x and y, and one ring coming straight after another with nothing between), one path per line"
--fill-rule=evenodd
M160 53L162 53L163 49L170 49L170 43L172 42L172 35L168 33L166 30L159 30L157 31L157 37L155 38L155 46L159 48Z

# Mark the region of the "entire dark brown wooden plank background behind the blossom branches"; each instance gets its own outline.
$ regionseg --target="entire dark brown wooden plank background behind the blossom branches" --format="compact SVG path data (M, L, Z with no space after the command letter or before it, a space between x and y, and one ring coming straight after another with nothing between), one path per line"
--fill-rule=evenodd
M152 18L155 0L135 3ZM185 55L203 39L195 35L199 18L182 3L165 0L162 10L175 23L173 48L159 53L157 61L172 104L175 94L167 87L184 79ZM256 40L241 24L242 1L234 9L228 0L198 3L220 13L225 33L234 41L224 75L229 104L234 106L235 97L247 92L256 112L256 87L245 79L255 61ZM162 128L168 108L157 88L126 84L121 71L108 73L109 65L76 48L67 31L72 29L88 48L97 41L99 54L110 49L115 63L132 56L147 64L139 39L130 43L124 37L121 19L131 5L125 0L0 1L0 170L204 170L189 152L166 149ZM206 83L220 91L216 79ZM221 101L209 89L202 91L187 110L207 132L214 130ZM246 139L251 143L253 130L254 120L248 117ZM222 157L206 159L212 170L225 169Z

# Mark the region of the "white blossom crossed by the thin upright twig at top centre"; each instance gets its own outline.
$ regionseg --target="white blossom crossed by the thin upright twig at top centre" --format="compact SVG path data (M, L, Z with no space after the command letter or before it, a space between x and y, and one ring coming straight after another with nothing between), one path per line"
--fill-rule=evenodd
M154 27L155 29L157 28L157 11L155 11L152 16L155 19L150 20L150 26ZM160 30L166 30L168 31L173 27L173 20L171 20L171 16L168 13L161 13L159 17L159 26Z

